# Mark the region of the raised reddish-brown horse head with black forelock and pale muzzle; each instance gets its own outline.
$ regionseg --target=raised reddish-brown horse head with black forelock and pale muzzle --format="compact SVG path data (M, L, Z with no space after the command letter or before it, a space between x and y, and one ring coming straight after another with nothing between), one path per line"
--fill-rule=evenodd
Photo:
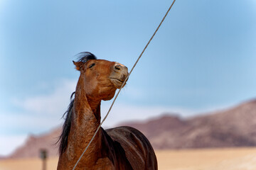
M123 64L97 60L90 52L82 52L80 60L73 63L85 80L83 86L87 98L110 100L128 75L128 69Z

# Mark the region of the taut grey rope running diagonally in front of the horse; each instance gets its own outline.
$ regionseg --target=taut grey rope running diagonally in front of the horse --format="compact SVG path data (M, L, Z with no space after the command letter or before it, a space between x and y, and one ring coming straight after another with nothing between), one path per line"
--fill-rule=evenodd
M164 19L165 19L166 16L168 15L168 13L169 13L169 11L171 10L171 7L174 5L175 1L176 1L176 0L174 0L174 1L172 2L171 6L169 7L168 11L166 12L164 18L161 20L161 23L159 23L159 26L156 28L156 30L155 30L154 34L151 36L149 42L147 42L146 46L145 46L144 49L142 50L142 53L139 55L137 61L134 63L134 66L132 67L131 71L129 72L127 78L124 80L124 82L123 82L122 86L120 87L120 89L119 89L117 95L114 97L114 101L112 102L112 104L111 104L111 106L110 106L110 109L109 109L109 111L107 112L107 115L109 115L109 113L110 113L110 111L111 111L111 109L112 109L112 107L113 107L113 105L114 105L114 102L116 101L117 96L119 95L121 89L124 87L124 84L127 82L127 79L128 79L129 76L132 74L132 71L133 71L134 67L135 67L135 66L137 65L137 63L139 62L139 59L142 57L144 51L146 50L146 47L148 47L149 43L150 43L151 40L154 38L154 35L156 35L156 32L159 30L161 24L164 22ZM105 120L106 120L106 118L107 118L107 115L105 115L105 118L102 120L102 123L100 123L99 127L97 128L95 134L92 136L92 139L90 140L89 144L88 144L87 147L85 148L84 152L82 152L80 158L78 159L78 162L80 162L80 160L82 159L82 156L85 154L85 152L87 151L88 147L89 147L90 144L92 143L92 140L95 138L95 135L96 135L97 132L100 130L101 125L105 122ZM75 170L75 167L78 166L78 162L75 163L75 166L73 167L73 170Z

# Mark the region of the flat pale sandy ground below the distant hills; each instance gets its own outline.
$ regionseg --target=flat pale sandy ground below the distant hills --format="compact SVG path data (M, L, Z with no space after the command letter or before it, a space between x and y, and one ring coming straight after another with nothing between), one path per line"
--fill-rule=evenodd
M256 147L231 149L186 149L156 151L160 170L255 170ZM47 170L56 169L58 158L47 161ZM0 170L41 170L40 159L6 159Z

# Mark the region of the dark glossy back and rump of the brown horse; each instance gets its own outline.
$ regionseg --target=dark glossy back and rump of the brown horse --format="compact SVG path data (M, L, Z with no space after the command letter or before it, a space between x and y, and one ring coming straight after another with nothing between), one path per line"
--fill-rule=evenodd
M132 169L157 169L154 149L142 132L128 126L107 129L106 132L122 146Z

